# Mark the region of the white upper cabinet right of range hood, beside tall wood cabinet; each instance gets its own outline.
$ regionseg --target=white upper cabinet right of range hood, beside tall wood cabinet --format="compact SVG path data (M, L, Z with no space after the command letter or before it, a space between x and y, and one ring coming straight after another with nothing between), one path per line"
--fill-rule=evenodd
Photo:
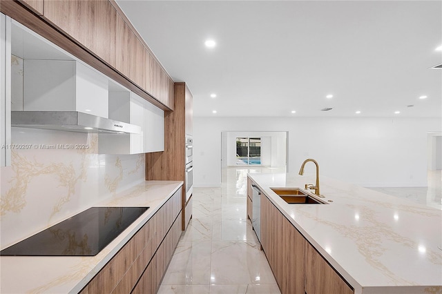
M109 92L109 118L141 126L141 134L99 134L98 152L137 154L164 151L164 110L134 92Z

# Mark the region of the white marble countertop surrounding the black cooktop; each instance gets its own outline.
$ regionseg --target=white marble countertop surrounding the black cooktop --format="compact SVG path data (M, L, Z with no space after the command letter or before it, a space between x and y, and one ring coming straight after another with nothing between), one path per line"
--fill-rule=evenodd
M95 204L149 206L141 217L95 256L1 256L0 292L78 293L182 184L179 181L147 181Z

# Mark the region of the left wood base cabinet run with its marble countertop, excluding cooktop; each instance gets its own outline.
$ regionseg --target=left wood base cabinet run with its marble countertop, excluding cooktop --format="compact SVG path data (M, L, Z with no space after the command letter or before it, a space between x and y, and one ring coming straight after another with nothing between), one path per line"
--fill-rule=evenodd
M154 293L156 286L152 285L159 284L162 273L159 277L146 275L144 280L140 276L151 273L153 268L164 273L169 264L168 257L182 232L182 184L147 181L97 203L95 206L149 208L95 256L1 256L0 293L128 293L135 283L141 285L138 293ZM155 256L160 251L156 263ZM153 262L155 267L150 268ZM115 276L118 272L122 275ZM152 282L150 276L157 280ZM106 282L100 280L103 278ZM136 286L134 292L137 293Z

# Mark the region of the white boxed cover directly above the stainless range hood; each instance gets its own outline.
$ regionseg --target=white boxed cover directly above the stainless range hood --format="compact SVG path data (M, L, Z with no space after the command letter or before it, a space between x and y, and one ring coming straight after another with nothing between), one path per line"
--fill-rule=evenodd
M108 117L108 79L70 60L23 62L23 110L80 111Z

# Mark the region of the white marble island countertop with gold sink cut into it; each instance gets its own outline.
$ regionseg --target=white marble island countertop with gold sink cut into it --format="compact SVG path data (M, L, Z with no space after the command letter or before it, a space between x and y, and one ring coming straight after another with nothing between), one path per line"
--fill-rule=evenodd
M304 188L314 175L249 177L355 293L442 293L441 210L322 176L332 202L287 204L271 188Z

